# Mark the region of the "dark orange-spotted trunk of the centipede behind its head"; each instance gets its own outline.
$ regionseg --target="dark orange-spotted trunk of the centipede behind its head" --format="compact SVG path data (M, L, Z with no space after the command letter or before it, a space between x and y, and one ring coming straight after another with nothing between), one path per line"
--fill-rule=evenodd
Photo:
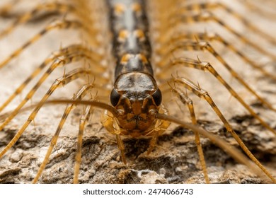
M142 0L110 0L110 29L117 59L115 78L131 71L153 75L148 21Z

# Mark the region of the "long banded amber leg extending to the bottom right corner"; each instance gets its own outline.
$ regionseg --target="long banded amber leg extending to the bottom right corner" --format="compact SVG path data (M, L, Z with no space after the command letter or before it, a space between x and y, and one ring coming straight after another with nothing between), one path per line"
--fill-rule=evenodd
M187 78L179 78L179 77L177 77L177 78L173 78L172 81L173 81L173 83L176 83L176 84L178 84L180 86L182 85L185 88L188 88L190 91L192 91L192 93L195 93L195 95L197 95L198 97L204 98L207 101L207 103L209 103L209 105L212 107L212 109L214 110L214 112L216 112L216 114L218 115L219 119L222 120L222 122L224 123L224 126L226 127L227 132L231 133L231 135L234 137L234 139L236 139L236 141L241 146L241 148L246 153L246 155L249 158L251 158L251 160L256 165L258 165L258 167L261 170L263 170L263 173L265 173L266 175L268 175L268 177L270 177L270 180L272 180L272 182L276 182L275 178L272 177L272 175L268 172L268 170L257 160L257 158L255 158L255 156L253 156L253 154L251 153L251 151L248 150L247 146L239 138L239 136L236 134L236 132L234 132L234 130L232 129L232 127L229 124L229 122L226 120L226 118L224 117L224 115L222 114L222 112L219 110L219 108L217 107L217 105L215 105L214 101L212 100L212 98L209 96L209 94L206 91L204 91L199 86L196 86L194 83L192 83L191 81L189 81Z

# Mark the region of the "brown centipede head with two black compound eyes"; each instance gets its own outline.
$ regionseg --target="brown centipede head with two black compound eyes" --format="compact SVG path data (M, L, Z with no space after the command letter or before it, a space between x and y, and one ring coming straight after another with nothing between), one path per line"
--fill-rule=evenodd
M161 91L154 78L142 72L119 76L110 94L119 126L132 136L139 136L154 126L161 100Z

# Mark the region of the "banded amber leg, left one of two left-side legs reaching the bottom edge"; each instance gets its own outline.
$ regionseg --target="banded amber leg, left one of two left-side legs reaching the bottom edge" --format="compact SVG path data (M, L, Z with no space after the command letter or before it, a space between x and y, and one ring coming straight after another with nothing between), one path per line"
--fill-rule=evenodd
M85 85L83 86L79 92L74 95L74 97L72 98L72 100L81 100L81 98L83 98L87 91L91 90L91 88L93 88L92 85ZM57 144L57 139L59 137L59 133L62 130L62 127L64 125L64 122L67 120L67 117L69 115L69 112L71 112L71 110L73 109L74 104L69 104L67 105L66 109L64 110L64 114L62 115L62 119L59 122L59 125L57 126L57 130L54 133L54 136L52 136L51 142L50 142L50 146L47 150L47 153L45 155L44 160L42 161L40 168L38 170L38 173L35 175L35 178L33 179L33 183L38 182L38 179L40 177L40 175L42 174L42 171L45 169L45 166L50 158L50 155L52 153L52 149L54 148L54 146Z

